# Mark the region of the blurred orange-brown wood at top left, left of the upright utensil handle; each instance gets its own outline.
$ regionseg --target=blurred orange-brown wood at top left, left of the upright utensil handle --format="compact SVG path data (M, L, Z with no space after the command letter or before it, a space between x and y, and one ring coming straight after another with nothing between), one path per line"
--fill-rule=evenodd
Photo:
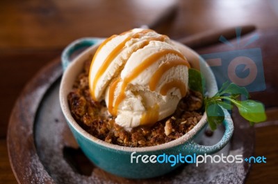
M156 20L172 0L1 1L0 48L63 48L80 37L108 37Z

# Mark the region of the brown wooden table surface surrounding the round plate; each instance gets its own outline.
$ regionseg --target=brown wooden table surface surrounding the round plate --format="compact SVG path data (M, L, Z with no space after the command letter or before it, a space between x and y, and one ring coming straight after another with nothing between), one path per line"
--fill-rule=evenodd
M248 48L261 48L265 91L252 99L265 104L268 120L254 127L254 156L266 164L252 165L247 183L278 181L278 3L275 0L141 0L141 1L0 1L0 183L17 183L8 160L6 132L10 112L24 85L63 48L80 37L108 37L142 24L152 24L177 4L174 18L157 27L172 39L206 30L251 24L259 39ZM235 42L235 41L232 41ZM197 52L227 50L223 44L197 48Z

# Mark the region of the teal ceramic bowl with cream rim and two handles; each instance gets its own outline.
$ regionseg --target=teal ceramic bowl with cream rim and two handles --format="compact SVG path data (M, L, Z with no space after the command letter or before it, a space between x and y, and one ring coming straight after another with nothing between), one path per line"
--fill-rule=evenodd
M202 129L206 127L206 113L204 113L204 116L197 123L197 125L181 138L152 147L123 147L119 145L113 145L99 140L98 138L95 138L83 130L70 113L70 108L67 103L67 94L70 93L76 76L81 73L83 62L85 59L88 59L90 55L92 56L95 54L95 51L97 50L97 47L101 41L103 41L103 39L78 39L67 46L62 55L63 68L65 71L60 84L60 106L63 110L65 119L67 120L67 124L70 126L70 129L74 134L74 137L76 138L79 146L83 150L84 154L92 161L92 163L101 169L104 169L106 172L110 172L111 174L115 174L117 176L122 176L125 178L152 178L155 176L161 176L167 172L171 172L173 169L182 164L177 163L173 165L169 162L160 163L158 161L154 163L154 159L157 158L156 156L161 154L165 154L167 156L177 156L179 154L182 156L193 154L213 154L217 151L220 151L220 149L227 145L234 131L233 122L227 111L225 111L225 120L223 122L225 127L224 135L220 142L212 146L199 145L194 141L195 138L201 134ZM218 87L213 73L209 67L206 66L204 60L190 48L177 42L174 43L177 45L177 47L179 47L181 52L186 55L186 57L188 57L188 60L190 61L190 64L193 66L193 68L202 68L202 73L206 79L207 84L207 95L214 95L218 91ZM75 50L78 50L84 46L90 47L83 51L72 62L70 62L70 55L72 55ZM142 161L143 155L146 155L144 158L148 157L148 159L146 159L144 162ZM152 157L152 160L149 160L150 157ZM138 163L136 163L136 158L138 158ZM173 160L173 158L170 160ZM163 160L160 159L160 161Z

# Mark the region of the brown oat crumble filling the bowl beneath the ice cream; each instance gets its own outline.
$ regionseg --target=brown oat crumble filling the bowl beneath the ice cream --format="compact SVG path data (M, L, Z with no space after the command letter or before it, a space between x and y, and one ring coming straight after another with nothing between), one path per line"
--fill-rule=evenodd
M86 61L83 72L76 78L67 100L72 116L89 134L106 142L126 147L149 147L175 140L184 134L202 118L202 95L188 91L181 99L172 116L156 122L152 127L136 127L130 132L115 123L104 101L95 102L90 97L88 73L90 60Z

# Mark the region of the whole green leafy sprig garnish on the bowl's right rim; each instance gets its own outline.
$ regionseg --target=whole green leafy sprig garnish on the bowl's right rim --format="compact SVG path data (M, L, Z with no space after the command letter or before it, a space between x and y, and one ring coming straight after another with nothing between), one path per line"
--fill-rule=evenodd
M204 94L204 78L201 73L190 68L188 75L188 85L190 89ZM200 89L200 87L202 89ZM240 95L244 100L239 100ZM232 110L234 107L238 108L240 116L248 120L250 125L265 121L266 115L264 105L261 102L249 100L248 98L250 98L250 95L247 89L229 82L224 82L218 93L213 97L205 97L204 108L208 117L208 125L211 129L215 130L217 125L223 122L223 109Z

